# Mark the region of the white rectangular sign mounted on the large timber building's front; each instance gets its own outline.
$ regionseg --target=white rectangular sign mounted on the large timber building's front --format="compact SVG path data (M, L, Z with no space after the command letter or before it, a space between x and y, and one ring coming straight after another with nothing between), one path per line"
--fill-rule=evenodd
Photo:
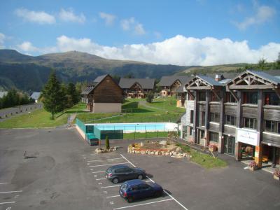
M251 144L253 146L259 146L259 135L258 132L254 130L247 130L244 128L237 129L237 139L236 141L242 142L245 144Z

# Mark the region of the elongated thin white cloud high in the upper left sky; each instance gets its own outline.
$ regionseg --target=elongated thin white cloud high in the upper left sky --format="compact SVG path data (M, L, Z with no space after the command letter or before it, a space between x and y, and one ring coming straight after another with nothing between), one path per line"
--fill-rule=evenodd
M36 22L38 24L54 24L55 17L44 11L31 11L25 8L18 8L15 10L15 15L23 18L27 22Z

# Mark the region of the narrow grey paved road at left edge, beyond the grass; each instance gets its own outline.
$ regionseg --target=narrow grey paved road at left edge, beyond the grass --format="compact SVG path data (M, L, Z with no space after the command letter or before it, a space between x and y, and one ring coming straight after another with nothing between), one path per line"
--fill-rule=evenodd
M7 109L0 109L0 121L6 120L22 113L34 111L34 109L41 108L43 108L43 104L27 104L22 106L14 106Z

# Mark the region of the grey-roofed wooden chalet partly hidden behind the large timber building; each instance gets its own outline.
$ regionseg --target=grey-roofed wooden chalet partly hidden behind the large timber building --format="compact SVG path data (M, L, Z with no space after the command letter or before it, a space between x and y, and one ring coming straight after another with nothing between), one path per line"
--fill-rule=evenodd
M176 90L181 87L181 85L186 84L188 80L188 76L162 76L159 83L162 88L160 92L161 96L167 97L176 94Z

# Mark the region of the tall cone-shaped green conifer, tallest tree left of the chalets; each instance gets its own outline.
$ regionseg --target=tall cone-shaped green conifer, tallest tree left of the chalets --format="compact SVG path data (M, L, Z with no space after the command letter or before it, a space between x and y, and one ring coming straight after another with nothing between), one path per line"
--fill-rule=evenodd
M50 73L48 83L45 84L42 90L42 98L45 111L50 112L52 120L54 120L55 113L59 113L65 108L65 94L59 80L55 76L55 72Z

